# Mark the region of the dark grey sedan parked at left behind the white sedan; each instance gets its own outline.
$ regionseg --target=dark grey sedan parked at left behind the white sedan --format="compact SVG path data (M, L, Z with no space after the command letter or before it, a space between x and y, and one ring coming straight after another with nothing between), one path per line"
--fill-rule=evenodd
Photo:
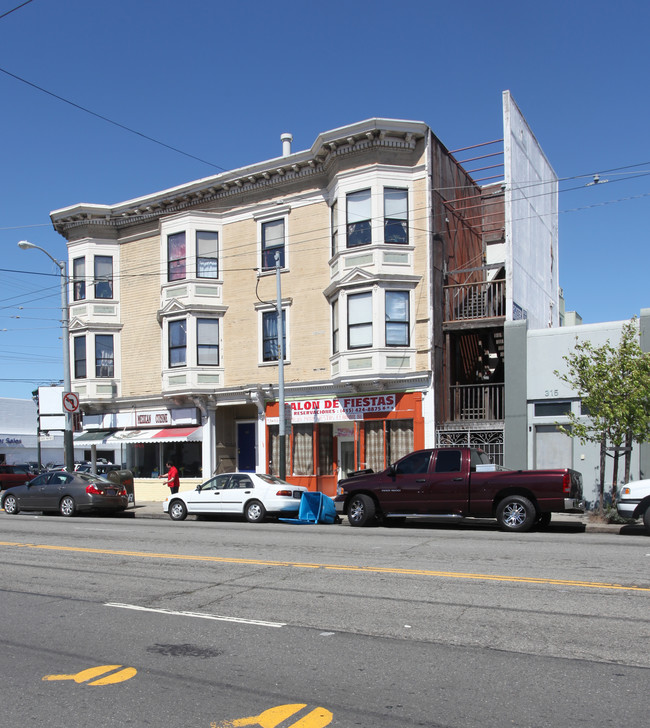
M81 511L117 513L129 505L126 488L90 473L56 470L36 476L2 494L5 513L20 511L59 511L74 516Z

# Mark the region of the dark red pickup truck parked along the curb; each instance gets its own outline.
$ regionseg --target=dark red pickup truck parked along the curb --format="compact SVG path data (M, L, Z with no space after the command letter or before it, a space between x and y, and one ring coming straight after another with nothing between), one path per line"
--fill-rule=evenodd
M482 450L417 450L381 473L339 481L336 510L351 526L406 517L496 518L506 531L548 525L551 513L583 513L575 470L506 470Z

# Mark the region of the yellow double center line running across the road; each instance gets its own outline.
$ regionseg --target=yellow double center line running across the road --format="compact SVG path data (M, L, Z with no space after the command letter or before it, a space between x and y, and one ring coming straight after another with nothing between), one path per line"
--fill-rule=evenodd
M199 556L197 554L165 554L148 551L126 551L121 549L91 549L79 546L52 546L50 544L0 541L0 546L41 549L45 551L66 551L80 554L102 554L104 556L135 556L145 559L169 561L203 561L219 564L247 564L249 566L289 566L297 569L328 569L330 571L353 571L364 574L398 574L403 576L436 576L444 579L472 579L475 581L501 581L516 584L546 584L555 586L584 587L588 589L617 589L622 591L650 592L650 587L632 584L608 584L605 582L577 581L573 579L548 579L535 576L505 576L501 574L472 574L457 571L436 571L433 569L400 569L384 566L351 566L346 564L311 564L300 561L270 561L268 559L237 559L228 556Z

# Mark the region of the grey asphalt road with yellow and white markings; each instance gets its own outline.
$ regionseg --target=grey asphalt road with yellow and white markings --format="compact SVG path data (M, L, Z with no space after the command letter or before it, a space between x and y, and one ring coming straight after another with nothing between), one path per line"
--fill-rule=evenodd
M9 728L647 724L642 534L0 527Z

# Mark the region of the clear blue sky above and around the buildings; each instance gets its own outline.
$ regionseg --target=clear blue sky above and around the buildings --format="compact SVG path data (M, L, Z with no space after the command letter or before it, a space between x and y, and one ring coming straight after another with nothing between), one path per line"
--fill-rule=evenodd
M23 0L0 0L0 16ZM585 323L650 307L650 10L638 0L33 0L0 18L0 396L62 377L49 212L111 204L381 116L449 148L510 89L561 182L560 285ZM176 147L102 121L25 81ZM599 173L606 184L585 186ZM20 318L16 318L20 317Z

